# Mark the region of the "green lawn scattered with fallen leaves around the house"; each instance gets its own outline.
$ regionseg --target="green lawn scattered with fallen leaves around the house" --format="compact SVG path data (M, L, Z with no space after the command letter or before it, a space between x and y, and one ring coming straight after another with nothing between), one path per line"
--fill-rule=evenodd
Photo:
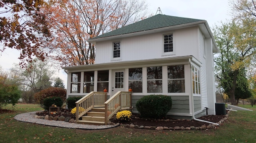
M0 114L0 143L256 143L256 106L240 106L254 111L231 111L217 129L156 131L124 127L82 130L26 123L14 116L43 109L34 104L8 105L4 109L12 112Z

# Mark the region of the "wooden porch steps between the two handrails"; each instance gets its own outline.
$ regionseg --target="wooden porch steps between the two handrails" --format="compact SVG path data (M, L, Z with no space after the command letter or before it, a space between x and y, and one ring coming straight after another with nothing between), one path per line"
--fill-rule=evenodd
M105 108L92 108L87 112L87 116L82 116L82 120L76 121L80 124L105 125Z

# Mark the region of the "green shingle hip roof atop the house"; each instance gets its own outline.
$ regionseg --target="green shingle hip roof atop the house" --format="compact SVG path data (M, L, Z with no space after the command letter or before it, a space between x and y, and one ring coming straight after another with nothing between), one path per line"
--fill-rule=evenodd
M176 16L167 16L163 14L158 14L150 18L147 18L145 20L136 22L134 24L130 24L122 28L116 29L114 31L110 31L108 33L99 35L92 39L134 33L139 31L146 31L151 29L158 29L158 28L169 27L169 26L180 25L180 24L188 24L188 23L199 22L199 21L204 21L204 20L198 20L198 19L192 19L192 18L181 18Z

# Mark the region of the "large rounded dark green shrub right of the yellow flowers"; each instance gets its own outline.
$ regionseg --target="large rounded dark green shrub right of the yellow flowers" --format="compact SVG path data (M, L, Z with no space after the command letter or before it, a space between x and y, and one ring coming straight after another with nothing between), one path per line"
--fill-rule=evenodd
M166 95L148 95L140 98L136 108L143 118L164 118L172 108L172 98Z

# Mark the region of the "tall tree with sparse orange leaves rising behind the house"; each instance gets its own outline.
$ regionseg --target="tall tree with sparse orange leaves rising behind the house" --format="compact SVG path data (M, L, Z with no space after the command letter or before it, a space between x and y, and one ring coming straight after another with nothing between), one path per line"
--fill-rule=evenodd
M51 0L43 13L54 38L46 47L63 66L94 64L95 45L86 40L145 18L146 9L138 0Z

